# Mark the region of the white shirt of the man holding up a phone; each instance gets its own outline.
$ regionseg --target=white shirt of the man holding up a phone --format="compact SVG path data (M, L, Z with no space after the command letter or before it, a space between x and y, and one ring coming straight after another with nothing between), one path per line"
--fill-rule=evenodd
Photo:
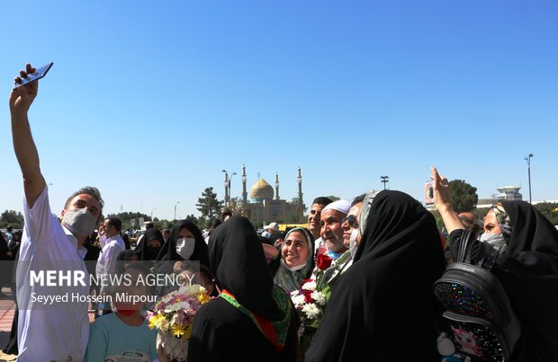
M89 295L89 273L85 268L85 248L77 250L77 240L49 207L47 187L30 209L23 200L25 226L16 272L19 323L17 340L20 362L37 362L72 358L81 361L87 348L89 318L87 302L71 301L71 296ZM85 286L70 281L70 286L31 286L31 270L81 271ZM68 296L68 302L44 305L34 296Z

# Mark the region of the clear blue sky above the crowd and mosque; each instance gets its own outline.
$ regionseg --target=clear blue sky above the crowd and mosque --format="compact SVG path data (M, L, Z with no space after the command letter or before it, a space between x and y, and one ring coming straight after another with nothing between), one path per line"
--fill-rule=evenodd
M57 213L94 185L105 213L198 215L243 163L248 188L278 172L284 199L301 166L307 205L381 175L422 199L430 165L528 199L529 153L533 199L558 199L557 16L551 0L2 2L0 210L22 210L14 75L50 61L30 121Z

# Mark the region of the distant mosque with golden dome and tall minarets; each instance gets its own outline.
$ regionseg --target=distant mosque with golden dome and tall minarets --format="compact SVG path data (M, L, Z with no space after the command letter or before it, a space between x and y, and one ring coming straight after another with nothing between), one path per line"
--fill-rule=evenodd
M296 223L304 219L306 207L302 200L302 174L298 169L298 196L293 201L281 199L279 196L279 175L275 173L274 188L259 177L247 194L246 167L242 165L242 203L243 214L254 224L266 225L272 222Z

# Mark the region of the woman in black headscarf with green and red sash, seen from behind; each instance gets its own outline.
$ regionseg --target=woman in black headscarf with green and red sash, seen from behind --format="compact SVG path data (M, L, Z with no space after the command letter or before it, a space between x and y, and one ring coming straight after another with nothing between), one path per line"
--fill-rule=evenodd
M232 216L215 229L209 254L220 296L193 319L188 362L297 361L293 304L274 286L248 219Z

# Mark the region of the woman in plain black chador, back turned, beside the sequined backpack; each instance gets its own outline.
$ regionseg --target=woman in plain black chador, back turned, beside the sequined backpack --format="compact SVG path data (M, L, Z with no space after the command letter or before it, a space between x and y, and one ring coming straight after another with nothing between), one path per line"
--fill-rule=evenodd
M353 265L333 290L305 360L439 360L432 285L446 261L434 216L409 195L383 190L365 199L360 221Z

